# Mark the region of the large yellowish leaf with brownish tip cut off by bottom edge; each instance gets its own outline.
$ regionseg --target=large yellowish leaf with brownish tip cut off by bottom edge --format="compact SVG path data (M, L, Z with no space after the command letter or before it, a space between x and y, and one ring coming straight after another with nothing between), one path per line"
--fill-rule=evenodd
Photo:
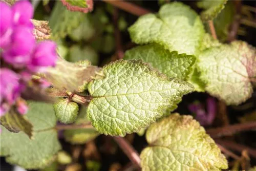
M173 114L153 123L146 132L146 140L150 146L140 154L143 171L228 168L214 140L191 116Z

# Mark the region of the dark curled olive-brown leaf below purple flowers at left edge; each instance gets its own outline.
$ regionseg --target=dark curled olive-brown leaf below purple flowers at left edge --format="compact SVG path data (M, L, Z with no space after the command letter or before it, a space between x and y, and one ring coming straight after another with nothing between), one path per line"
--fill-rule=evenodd
M0 117L0 124L10 132L18 133L23 131L29 138L32 138L33 125L26 115L17 113L13 108L6 115Z

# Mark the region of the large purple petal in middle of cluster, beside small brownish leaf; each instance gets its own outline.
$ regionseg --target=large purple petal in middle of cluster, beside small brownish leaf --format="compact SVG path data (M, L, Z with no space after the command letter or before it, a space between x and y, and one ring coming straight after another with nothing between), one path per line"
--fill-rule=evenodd
M11 36L10 49L3 54L4 60L17 68L26 66L31 59L35 42L30 29L22 26L15 28Z

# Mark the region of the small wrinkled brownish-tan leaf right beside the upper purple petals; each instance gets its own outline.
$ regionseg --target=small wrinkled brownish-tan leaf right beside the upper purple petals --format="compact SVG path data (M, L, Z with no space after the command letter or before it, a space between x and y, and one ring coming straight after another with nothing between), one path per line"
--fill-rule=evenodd
M37 40L45 40L51 37L51 29L48 21L40 21L32 19L34 25L33 34Z

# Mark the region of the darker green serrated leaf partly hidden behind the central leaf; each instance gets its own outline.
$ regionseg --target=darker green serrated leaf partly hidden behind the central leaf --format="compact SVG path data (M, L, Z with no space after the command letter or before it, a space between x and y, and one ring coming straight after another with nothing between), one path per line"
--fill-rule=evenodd
M168 77L177 77L182 80L188 77L196 61L194 55L186 55L184 53L178 55L176 51L169 52L155 44L128 50L125 52L124 59L142 59Z

